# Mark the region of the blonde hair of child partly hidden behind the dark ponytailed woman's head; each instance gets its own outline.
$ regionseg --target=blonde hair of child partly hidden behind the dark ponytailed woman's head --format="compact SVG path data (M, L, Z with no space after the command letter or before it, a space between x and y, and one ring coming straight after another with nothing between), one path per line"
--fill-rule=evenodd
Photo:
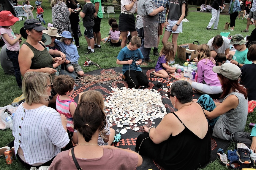
M103 96L102 94L99 92L99 91L96 91L96 90L88 90L86 92L84 92L82 95L81 95L81 98L80 98L80 103L82 102L94 102L94 103L97 103L99 105L99 107L102 109L103 113L105 114L105 105L104 105L104 100L103 100ZM105 114L106 116L106 114ZM105 129L102 129L100 132L99 132L99 135L103 138L103 139L106 139L105 137Z

